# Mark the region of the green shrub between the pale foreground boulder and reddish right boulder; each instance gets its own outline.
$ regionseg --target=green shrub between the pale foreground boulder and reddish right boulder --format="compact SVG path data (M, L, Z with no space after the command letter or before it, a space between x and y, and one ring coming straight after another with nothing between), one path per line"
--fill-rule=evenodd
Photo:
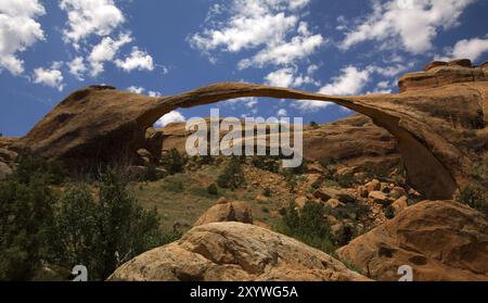
M280 212L283 217L277 226L278 231L326 253L335 251L330 226L323 219L325 214L323 205L307 202L303 210L297 210L296 204L292 202L288 207Z

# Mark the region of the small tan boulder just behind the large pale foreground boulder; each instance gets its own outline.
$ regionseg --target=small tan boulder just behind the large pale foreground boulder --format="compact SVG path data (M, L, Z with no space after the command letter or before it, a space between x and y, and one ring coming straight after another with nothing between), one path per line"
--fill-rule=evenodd
M216 222L241 222L253 224L253 211L246 201L233 201L226 204L216 204L208 209L194 224L205 225Z

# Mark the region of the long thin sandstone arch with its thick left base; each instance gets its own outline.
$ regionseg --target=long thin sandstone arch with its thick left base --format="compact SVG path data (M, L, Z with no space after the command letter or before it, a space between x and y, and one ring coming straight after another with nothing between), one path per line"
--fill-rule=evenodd
M100 162L123 151L134 152L145 130L160 116L179 108L192 108L242 97L265 97L333 102L362 113L398 139L410 184L429 199L450 199L457 190L461 166L446 165L459 151L394 102L394 94L332 97L293 89L242 83L223 83L193 91L152 98L110 87L78 90L23 137L16 148L30 148L46 157L67 162ZM414 131L412 130L414 129ZM440 153L439 153L440 152ZM461 160L458 160L462 162Z

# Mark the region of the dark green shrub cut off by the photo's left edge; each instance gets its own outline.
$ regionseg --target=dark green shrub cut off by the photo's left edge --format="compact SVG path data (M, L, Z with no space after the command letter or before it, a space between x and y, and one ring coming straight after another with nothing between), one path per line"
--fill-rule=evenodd
M30 280L47 256L55 202L51 181L38 171L0 182L0 280Z

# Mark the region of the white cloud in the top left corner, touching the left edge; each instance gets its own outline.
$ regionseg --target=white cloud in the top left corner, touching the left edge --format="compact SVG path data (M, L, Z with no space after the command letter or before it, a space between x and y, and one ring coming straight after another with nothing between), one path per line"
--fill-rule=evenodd
M44 33L36 17L46 13L38 0L0 1L0 72L24 73L24 61L17 55L39 40Z

